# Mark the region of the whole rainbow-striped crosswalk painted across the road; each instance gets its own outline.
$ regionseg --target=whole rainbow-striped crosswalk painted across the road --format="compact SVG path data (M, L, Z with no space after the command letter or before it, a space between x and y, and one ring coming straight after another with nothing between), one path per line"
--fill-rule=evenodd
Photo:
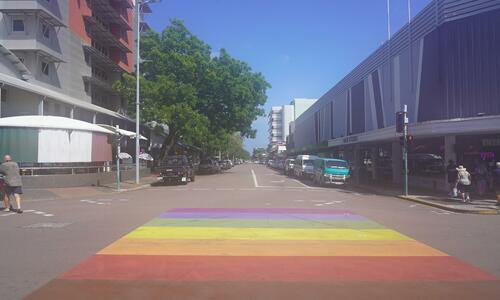
M29 299L499 299L492 275L347 210L177 208Z

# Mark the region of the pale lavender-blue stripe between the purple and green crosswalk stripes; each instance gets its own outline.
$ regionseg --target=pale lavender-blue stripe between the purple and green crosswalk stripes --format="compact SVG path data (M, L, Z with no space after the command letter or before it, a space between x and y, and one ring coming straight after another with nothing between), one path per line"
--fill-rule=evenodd
M353 214L263 214L263 213L163 213L160 218L173 219L257 219L257 220L352 220L365 221Z

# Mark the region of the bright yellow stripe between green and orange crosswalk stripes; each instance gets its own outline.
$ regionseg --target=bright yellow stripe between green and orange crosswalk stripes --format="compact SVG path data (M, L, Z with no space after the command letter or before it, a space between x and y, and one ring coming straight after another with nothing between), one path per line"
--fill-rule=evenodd
M224 240L409 240L390 229L139 227L128 238Z

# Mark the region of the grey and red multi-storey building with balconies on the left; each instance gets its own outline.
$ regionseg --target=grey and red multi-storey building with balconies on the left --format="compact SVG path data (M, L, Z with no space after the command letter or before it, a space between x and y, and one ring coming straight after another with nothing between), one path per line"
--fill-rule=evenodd
M0 117L53 115L133 129L112 88L135 67L133 5L1 0Z

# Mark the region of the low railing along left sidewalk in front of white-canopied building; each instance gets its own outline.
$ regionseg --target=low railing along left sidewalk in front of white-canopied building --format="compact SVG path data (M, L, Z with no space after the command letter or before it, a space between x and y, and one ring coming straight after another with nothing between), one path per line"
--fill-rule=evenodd
M147 162L141 161L140 167L147 168ZM116 164L100 163L19 163L23 176L76 175L116 172ZM120 171L134 170L135 163L120 163Z

